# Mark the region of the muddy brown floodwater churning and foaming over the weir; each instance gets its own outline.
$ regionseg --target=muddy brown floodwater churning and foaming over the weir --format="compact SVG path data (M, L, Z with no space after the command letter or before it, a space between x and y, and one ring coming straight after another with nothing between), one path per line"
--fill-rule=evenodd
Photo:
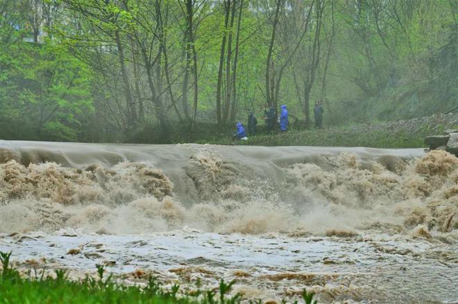
M237 279L246 298L458 301L443 151L0 141L0 250L23 271Z

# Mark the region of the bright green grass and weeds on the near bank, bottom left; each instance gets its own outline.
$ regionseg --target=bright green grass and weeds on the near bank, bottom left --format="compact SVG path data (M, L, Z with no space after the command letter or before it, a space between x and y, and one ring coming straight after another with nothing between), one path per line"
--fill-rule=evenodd
M235 281L221 280L215 290L197 290L193 294L181 294L180 287L165 289L154 278L139 285L114 283L112 276L104 276L103 267L97 267L99 277L69 280L66 271L57 269L56 276L28 274L27 277L10 267L10 254L0 252L0 303L181 303L181 304L235 304L241 302L239 294L228 295ZM305 303L312 301L313 294L303 292ZM261 303L257 301L255 303ZM285 302L284 302L285 303ZM295 302L297 303L297 301Z

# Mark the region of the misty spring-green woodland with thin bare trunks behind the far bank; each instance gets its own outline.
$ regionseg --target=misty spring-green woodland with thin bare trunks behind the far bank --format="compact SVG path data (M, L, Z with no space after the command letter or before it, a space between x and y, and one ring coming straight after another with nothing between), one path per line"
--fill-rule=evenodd
M167 142L458 105L456 0L0 0L0 138ZM296 124L296 125L297 125Z

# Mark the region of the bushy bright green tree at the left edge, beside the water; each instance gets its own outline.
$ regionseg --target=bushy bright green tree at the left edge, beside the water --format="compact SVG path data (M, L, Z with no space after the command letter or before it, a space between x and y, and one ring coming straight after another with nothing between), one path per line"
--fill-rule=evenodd
M51 42L1 53L0 136L76 141L80 119L94 111L87 66Z

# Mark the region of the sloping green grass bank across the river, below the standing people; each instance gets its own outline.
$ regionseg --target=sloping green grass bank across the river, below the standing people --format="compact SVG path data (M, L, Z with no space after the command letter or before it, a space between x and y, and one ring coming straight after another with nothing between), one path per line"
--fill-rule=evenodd
M323 129L291 129L285 133L260 132L248 141L234 141L228 134L198 139L197 143L219 145L314 145L341 147L425 147L425 136L442 134L458 127L452 116L430 116L414 120L332 126Z

